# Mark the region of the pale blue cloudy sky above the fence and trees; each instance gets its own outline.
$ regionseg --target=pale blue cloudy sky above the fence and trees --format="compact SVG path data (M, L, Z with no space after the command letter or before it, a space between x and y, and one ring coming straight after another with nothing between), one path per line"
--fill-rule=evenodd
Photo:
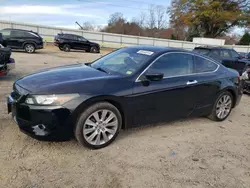
M75 21L105 25L112 13L131 19L152 2L170 5L170 0L0 0L0 19L70 28L77 28Z

